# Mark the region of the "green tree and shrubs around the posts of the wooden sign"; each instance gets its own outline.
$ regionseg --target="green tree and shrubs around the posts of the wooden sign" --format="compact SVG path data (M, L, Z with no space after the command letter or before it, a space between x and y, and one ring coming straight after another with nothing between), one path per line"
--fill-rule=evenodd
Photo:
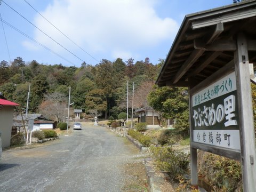
M170 93L172 92L172 93ZM175 93L174 93L175 92ZM183 100L177 101L179 97ZM177 191L197 191L190 187L188 106L186 106L186 89L155 87L148 95L151 106L161 112L164 119L174 119L174 129L133 130L131 136L147 135L150 137L150 151L157 169L168 173L177 182ZM252 85L254 125L256 125L256 86ZM175 105L174 105L175 104ZM256 127L256 126L255 126ZM137 133L134 133L137 132ZM255 131L256 132L256 131ZM129 131L130 134L130 131ZM135 137L134 137L135 138ZM243 191L241 163L233 159L200 151L198 153L199 185L207 191Z

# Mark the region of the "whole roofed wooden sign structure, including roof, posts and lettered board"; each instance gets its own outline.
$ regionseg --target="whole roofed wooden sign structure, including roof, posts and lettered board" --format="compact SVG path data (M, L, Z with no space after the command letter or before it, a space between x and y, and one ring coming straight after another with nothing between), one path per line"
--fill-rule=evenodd
M196 151L201 149L241 161L244 191L254 191L256 188L254 181L256 178L255 137L250 87L250 75L253 76L253 69L250 74L249 63L254 65L256 63L255 0L186 15L167 54L156 84L189 87L192 185L197 185ZM210 87L211 85L214 86ZM220 111L219 114L214 112L215 116L212 116L210 121L201 116L202 108L195 106L207 100L212 101L214 97L217 100L219 91L226 92L226 95L233 91L232 95L225 96L228 100L224 99L224 101L227 102L227 106L234 108L223 108L226 103L223 104L221 98L223 105L218 105L219 108L217 105L215 108L214 105L209 105L208 109ZM235 106L238 109L235 110ZM205 105L205 107L208 106ZM201 114L198 115L198 112ZM223 118L225 119L225 116L228 120L223 122L232 123L231 127L235 129L233 131L238 133L236 139L240 140L236 140L235 137L232 139L238 145L241 143L241 148L240 145L235 146L237 143L230 147L230 134L223 134L223 138L220 138L220 132L217 132L218 137L214 135L212 138L217 143L206 142L207 126L216 124L217 127L213 127L212 132L214 129L223 131L221 126L218 127L218 123ZM203 122L202 119L209 120L209 122ZM228 127L228 129L231 128ZM229 132L228 129L226 127L225 131ZM194 133L197 134L194 135ZM225 141L225 147L220 145L220 141L222 143Z

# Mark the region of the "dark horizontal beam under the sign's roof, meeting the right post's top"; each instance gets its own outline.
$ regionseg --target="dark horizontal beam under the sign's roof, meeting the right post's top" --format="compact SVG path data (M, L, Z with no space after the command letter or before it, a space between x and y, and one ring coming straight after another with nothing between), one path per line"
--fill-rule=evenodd
M194 48L204 51L235 51L236 42L233 40L219 40L206 45L202 40L195 39Z

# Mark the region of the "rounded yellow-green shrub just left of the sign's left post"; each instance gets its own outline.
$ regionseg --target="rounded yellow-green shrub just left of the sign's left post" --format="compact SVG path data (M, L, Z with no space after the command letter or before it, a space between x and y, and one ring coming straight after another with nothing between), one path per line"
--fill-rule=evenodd
M158 169L169 173L172 179L178 180L188 172L189 155L171 147L152 147L151 151Z

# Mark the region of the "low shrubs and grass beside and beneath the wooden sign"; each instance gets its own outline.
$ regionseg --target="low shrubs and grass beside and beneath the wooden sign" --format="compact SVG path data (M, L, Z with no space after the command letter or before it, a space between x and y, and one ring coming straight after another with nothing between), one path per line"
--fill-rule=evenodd
M169 174L178 186L177 191L197 191L191 188L189 180L189 138L171 129L130 129L128 134L143 146L151 146L154 165ZM207 191L243 191L241 163L233 159L199 151L198 175L199 185Z

